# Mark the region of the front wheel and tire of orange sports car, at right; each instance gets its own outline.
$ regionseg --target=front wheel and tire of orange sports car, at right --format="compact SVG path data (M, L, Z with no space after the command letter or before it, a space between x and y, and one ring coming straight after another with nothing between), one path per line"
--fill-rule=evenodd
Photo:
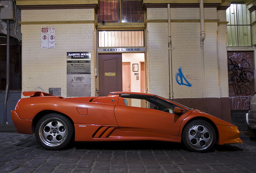
M191 121L182 131L182 141L190 151L207 152L212 149L215 140L213 126L204 120Z

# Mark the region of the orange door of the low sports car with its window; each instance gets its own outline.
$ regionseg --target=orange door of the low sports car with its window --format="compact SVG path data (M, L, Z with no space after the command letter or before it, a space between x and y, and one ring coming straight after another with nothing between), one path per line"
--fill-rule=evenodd
M146 102L146 104L142 104L142 102ZM146 105L146 107L141 107L140 105ZM167 106L165 107L167 108ZM133 99L132 105L117 105L114 113L118 126L122 131L140 131L178 136L180 123L177 123L177 120L180 116L173 114L174 105L171 103L170 107L172 108L169 108L170 111L167 111L165 107L161 104L155 105L149 102L149 98Z

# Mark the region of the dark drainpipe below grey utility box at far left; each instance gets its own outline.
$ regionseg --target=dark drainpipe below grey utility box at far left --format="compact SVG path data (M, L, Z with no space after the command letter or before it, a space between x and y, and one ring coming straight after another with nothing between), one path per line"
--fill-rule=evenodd
M6 37L6 89L5 89L5 100L4 100L4 125L7 123L7 99L9 93L9 77L10 77L10 21L6 20L7 23L7 37Z

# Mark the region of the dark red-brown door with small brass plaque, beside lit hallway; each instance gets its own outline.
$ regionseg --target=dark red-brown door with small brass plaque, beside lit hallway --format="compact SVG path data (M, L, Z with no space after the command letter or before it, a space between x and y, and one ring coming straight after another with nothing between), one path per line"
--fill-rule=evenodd
M122 91L122 54L99 54L99 95Z

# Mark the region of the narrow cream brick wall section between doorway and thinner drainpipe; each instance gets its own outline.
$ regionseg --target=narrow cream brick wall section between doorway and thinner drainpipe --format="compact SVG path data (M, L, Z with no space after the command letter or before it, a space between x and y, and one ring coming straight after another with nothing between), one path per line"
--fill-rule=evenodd
M150 93L169 98L169 60L166 23L147 27L148 87Z

